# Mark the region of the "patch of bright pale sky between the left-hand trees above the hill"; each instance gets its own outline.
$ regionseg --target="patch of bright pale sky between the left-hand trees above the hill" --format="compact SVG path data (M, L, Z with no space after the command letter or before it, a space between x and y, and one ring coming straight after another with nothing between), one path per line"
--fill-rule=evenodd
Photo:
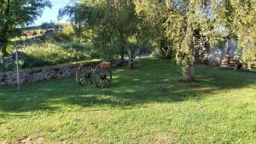
M58 12L59 9L64 8L68 3L70 3L70 0L49 0L52 3L52 8L46 8L44 9L44 13L41 17L38 17L38 20L34 22L32 26L40 26L44 22L67 22L67 18L64 18L63 20L58 21Z

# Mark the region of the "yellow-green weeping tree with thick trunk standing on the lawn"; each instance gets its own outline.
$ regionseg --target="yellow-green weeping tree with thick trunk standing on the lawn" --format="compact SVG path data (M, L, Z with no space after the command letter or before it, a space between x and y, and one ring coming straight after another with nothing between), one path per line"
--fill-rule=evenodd
M193 52L195 32L205 32L211 26L207 0L169 0L166 33L176 50L176 60L182 66L183 81L195 81Z

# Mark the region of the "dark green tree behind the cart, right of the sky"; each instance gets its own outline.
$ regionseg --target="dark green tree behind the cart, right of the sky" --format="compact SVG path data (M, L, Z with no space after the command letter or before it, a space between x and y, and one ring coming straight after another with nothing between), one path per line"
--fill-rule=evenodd
M125 43L137 31L133 0L82 1L67 6L60 15L69 15L82 31L92 31L95 48L107 59L117 53L125 59Z

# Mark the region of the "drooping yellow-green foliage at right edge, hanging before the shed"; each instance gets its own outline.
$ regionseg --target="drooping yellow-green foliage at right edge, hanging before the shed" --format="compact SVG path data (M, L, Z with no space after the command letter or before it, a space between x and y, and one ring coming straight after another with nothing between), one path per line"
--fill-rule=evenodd
M214 21L236 35L242 62L256 66L256 1L212 0Z

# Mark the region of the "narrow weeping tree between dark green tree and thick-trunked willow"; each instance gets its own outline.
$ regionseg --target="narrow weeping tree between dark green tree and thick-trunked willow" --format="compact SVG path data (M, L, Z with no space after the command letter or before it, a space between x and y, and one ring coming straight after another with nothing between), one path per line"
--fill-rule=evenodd
M144 37L150 37L156 43L160 55L164 58L172 57L172 41L166 37L166 20L168 19L168 3L155 0L136 1L137 14L147 28Z

